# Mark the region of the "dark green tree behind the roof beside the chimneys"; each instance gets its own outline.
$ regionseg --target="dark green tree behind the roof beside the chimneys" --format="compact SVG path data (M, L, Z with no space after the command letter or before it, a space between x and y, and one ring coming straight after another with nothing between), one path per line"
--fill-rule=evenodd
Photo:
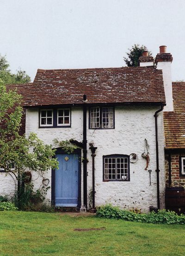
M147 48L144 45L133 45L131 49L128 49L129 52L126 52L128 58L123 58L128 67L139 66L139 57L142 56L142 52ZM151 51L148 52L148 55L151 56Z

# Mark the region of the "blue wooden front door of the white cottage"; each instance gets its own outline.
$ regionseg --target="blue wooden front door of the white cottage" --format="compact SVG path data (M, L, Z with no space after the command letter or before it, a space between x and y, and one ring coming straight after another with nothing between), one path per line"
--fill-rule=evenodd
M78 154L56 154L59 169L55 171L56 206L78 204L79 157Z

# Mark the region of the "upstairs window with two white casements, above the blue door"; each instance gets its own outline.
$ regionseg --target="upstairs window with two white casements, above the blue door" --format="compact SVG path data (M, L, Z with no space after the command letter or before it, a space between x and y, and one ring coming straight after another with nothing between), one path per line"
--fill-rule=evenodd
M71 127L71 109L40 109L39 128Z

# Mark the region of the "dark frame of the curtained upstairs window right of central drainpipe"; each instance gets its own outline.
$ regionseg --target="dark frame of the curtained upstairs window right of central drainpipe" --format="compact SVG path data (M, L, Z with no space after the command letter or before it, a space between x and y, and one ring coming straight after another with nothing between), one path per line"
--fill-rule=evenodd
M99 128L91 128L91 109L92 108L99 108ZM103 115L102 115L102 109L113 109L113 127L112 128L102 128L103 123ZM91 106L89 107L89 129L93 130L107 130L107 129L115 129L115 108L114 106Z

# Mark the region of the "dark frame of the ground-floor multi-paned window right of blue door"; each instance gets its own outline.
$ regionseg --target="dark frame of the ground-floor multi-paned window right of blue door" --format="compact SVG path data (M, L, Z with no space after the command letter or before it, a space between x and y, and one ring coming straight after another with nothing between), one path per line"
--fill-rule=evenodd
M105 158L127 158L128 159L128 179L117 179L117 163L116 163L116 171L115 171L115 177L116 179L105 179ZM103 155L103 181L104 182L112 182L112 181L130 181L130 161L129 161L129 155L126 154L110 154L110 155Z

